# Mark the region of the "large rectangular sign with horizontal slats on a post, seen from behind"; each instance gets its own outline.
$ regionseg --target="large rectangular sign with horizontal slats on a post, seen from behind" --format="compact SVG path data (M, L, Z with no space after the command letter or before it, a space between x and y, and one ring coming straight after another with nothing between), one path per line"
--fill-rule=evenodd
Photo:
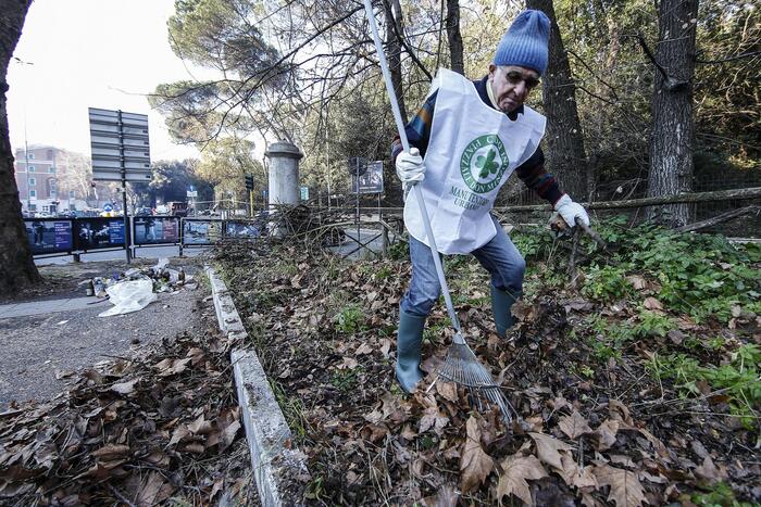
M89 107L92 179L122 182L125 252L130 261L127 181L151 180L148 116Z

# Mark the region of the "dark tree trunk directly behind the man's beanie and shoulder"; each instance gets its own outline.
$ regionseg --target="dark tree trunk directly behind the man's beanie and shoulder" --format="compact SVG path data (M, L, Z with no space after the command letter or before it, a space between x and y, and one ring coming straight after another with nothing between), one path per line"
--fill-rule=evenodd
M549 64L542 77L541 94L547 115L547 168L573 199L587 199L587 157L584 134L576 110L576 86L563 48L552 0L527 0L529 9L550 18Z

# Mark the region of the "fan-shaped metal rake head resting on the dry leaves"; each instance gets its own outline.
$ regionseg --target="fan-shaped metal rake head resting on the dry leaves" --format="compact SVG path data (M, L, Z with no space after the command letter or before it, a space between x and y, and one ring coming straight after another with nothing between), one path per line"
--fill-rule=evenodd
M447 358L438 368L436 375L445 380L463 385L476 395L482 395L496 405L502 414L508 428L512 423L512 411L515 409L502 394L500 386L494 381L488 370L478 362L461 335L456 335L447 351Z

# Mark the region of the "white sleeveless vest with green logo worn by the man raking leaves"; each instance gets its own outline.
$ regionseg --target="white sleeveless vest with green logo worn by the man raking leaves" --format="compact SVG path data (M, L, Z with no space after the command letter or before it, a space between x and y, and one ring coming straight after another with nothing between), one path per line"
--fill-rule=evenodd
M524 105L513 122L486 105L473 83L446 68L438 71L431 93L436 88L425 180L419 185L438 251L470 253L497 233L489 217L497 193L539 147L546 118ZM404 225L428 244L415 192L404 203Z

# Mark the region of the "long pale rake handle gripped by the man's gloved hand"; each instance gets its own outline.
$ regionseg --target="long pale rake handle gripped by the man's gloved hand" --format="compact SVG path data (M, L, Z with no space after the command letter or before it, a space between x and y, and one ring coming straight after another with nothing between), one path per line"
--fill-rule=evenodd
M404 151L410 150L410 141L407 139L407 131L404 130L404 123L401 119L401 112L399 111L399 102L397 102L397 94L394 91L394 85L391 84L391 74L388 71L388 64L386 63L386 55L383 52L383 45L380 43L380 36L378 35L378 27L375 23L375 15L373 14L373 5L371 0L364 0L364 11L367 14L367 22L370 23L370 29L373 33L373 41L375 42L375 51L378 55L378 61L380 62L380 69L383 71L383 77L386 81L386 91L388 92L388 98L391 101L391 110L394 111L394 119L397 124L397 130L399 131L399 139L401 140L401 145ZM454 305L452 304L452 297L449 295L449 287L447 286L447 279L444 277L444 268L441 267L441 258L438 255L438 249L436 248L436 239L434 238L434 231L431 227L431 219L428 218L428 210L425 207L425 201L423 201L423 192L420 190L417 183L413 185L413 191L415 192L415 199L420 205L420 214L423 216L423 225L425 226L425 236L428 238L431 243L431 255L434 257L434 265L436 266L436 275L438 275L438 281L441 284L441 293L444 294L444 301L447 303L447 312L449 312L449 318L452 320L452 326L457 331L454 337L454 342L464 343L462 338L462 330L460 328L460 319L458 319L454 313Z

